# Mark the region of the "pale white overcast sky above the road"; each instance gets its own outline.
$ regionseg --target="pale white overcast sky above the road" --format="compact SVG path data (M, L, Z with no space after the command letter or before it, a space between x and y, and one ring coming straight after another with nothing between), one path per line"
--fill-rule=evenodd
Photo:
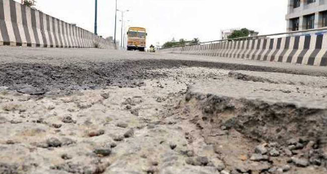
M15 0L20 2L20 0ZM147 29L147 45L184 38L218 40L221 30L248 28L260 34L286 31L286 0L117 0L128 26ZM37 0L36 9L94 32L95 0ZM121 38L117 13L117 40ZM115 0L98 0L98 34L113 36ZM126 29L127 30L127 29ZM124 32L125 33L125 32Z

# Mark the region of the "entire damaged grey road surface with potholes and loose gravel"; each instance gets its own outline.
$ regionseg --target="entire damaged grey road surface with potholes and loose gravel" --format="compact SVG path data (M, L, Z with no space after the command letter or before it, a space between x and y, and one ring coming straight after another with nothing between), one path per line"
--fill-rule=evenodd
M325 72L2 49L2 174L327 173Z

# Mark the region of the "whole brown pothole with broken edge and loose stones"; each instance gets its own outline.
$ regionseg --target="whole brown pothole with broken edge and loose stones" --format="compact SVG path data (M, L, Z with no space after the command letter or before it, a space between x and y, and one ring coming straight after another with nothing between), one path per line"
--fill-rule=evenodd
M189 90L178 114L196 126L235 173L327 169L327 109Z

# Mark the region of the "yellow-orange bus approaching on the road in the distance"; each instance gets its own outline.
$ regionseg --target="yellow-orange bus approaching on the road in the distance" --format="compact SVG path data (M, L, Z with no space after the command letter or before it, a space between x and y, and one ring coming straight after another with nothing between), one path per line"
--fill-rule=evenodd
M144 51L146 45L146 30L141 27L130 27L127 32L127 50Z

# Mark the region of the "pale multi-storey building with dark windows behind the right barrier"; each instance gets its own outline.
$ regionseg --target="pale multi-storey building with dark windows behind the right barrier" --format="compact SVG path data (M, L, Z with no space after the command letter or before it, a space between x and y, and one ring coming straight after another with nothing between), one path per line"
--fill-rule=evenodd
M288 0L287 31L327 27L327 0Z

